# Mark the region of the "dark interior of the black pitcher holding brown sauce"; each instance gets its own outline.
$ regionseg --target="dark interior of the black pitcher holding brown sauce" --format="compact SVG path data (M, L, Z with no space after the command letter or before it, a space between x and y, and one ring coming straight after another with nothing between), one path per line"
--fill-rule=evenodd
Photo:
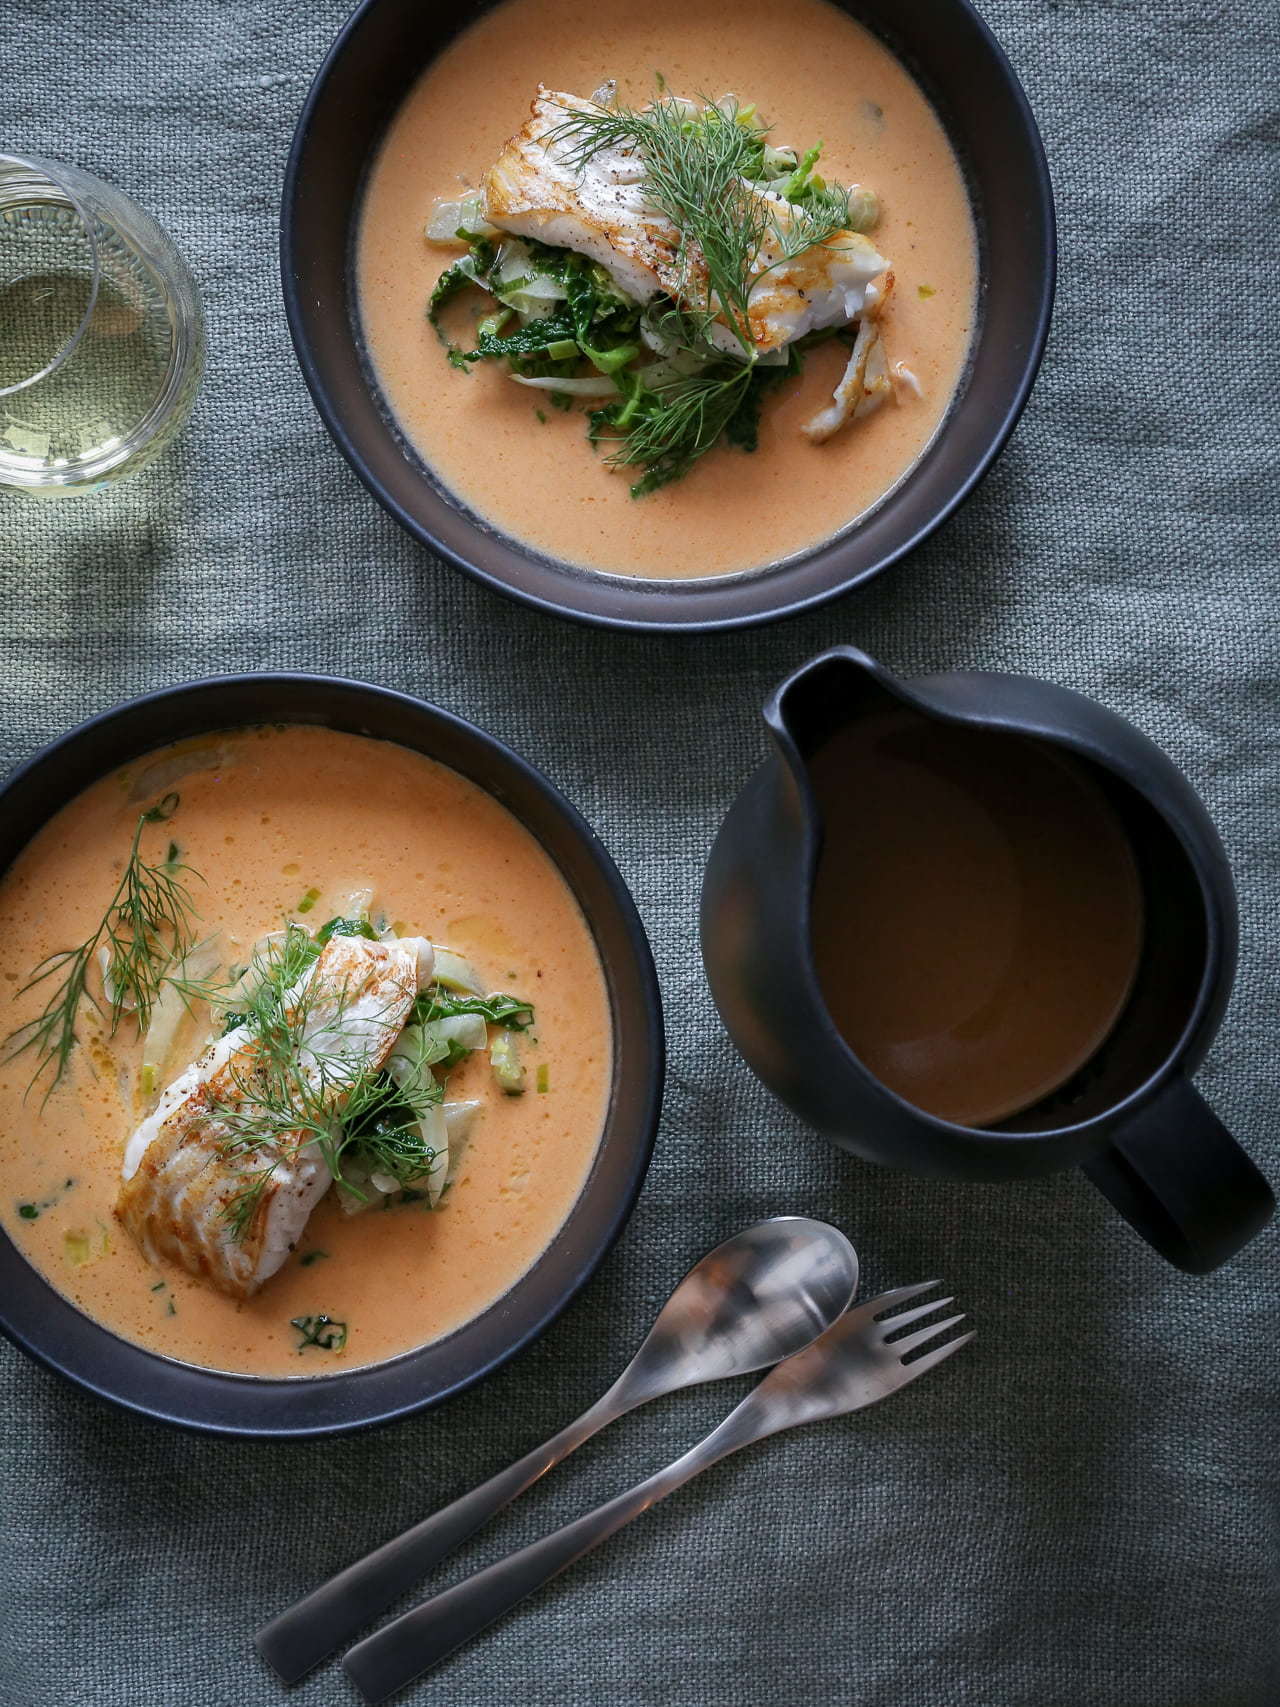
M908 710L814 758L819 983L848 1046L916 1108L981 1127L1063 1086L1128 999L1142 889L1087 768Z

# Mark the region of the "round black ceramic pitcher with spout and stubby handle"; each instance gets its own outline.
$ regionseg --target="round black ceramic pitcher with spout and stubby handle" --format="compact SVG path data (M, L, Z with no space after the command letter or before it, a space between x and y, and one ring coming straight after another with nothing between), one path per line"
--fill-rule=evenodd
M814 971L809 913L823 824L807 763L852 719L891 707L1075 754L1120 814L1138 865L1143 949L1116 1026L1073 1079L985 1130L927 1115L872 1077L836 1031ZM852 647L790 676L765 722L777 751L729 811L701 898L712 992L759 1077L870 1161L957 1180L1079 1164L1157 1251L1193 1273L1251 1239L1275 1207L1271 1190L1190 1079L1231 990L1236 893L1208 814L1169 758L1067 688L978 671L899 681Z

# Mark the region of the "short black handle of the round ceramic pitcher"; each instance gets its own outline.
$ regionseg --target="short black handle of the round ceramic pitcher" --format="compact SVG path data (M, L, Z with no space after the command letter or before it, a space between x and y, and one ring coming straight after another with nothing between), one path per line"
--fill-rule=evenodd
M1271 1186L1181 1074L1084 1171L1161 1256L1193 1275L1225 1263L1275 1210Z

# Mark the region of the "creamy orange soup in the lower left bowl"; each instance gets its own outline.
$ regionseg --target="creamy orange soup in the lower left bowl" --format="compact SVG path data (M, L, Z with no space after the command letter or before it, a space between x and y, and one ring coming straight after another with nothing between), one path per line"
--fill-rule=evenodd
M348 1217L329 1195L285 1267L237 1302L179 1268L147 1263L114 1219L125 1140L148 1103L137 1026L125 1021L114 1040L94 1043L87 1022L43 1108L39 1091L24 1094L31 1053L0 1067L0 1221L82 1311L184 1362L316 1376L439 1338L515 1284L591 1169L611 1014L587 923L534 838L456 772L326 729L239 731L94 784L24 850L0 883L5 1031L41 1009L48 988L15 992L44 956L92 934L138 813L171 789L179 804L148 831L147 847L164 857L172 836L201 874L191 884L201 937L234 958L263 930L300 918L300 906L309 923L323 923L341 896L372 884L375 908L401 934L451 946L486 988L532 1002L534 1024L521 1036L526 1091L503 1096L486 1055L469 1057L447 1096L483 1106L440 1205ZM208 1009L184 1026L166 1079L208 1036ZM348 1325L343 1350L299 1349L290 1321L316 1314Z

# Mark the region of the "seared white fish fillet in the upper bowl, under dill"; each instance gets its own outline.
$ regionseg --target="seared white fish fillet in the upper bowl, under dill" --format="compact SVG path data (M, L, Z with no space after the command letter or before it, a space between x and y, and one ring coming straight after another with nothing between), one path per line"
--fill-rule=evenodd
M645 201L638 154L626 145L602 149L579 171L570 164L572 138L546 140L570 113L584 111L592 111L591 101L539 85L524 128L485 174L486 218L514 236L591 256L635 302L657 294L679 299L681 283L688 283L679 234ZM780 225L794 217L782 196L761 189L759 200ZM761 355L874 312L882 300L889 263L860 232L836 232L766 271L777 259L777 246L766 242L758 266L763 277L748 299L749 335ZM696 273L695 258L695 285ZM741 352L727 326L712 328L712 335L727 352Z

